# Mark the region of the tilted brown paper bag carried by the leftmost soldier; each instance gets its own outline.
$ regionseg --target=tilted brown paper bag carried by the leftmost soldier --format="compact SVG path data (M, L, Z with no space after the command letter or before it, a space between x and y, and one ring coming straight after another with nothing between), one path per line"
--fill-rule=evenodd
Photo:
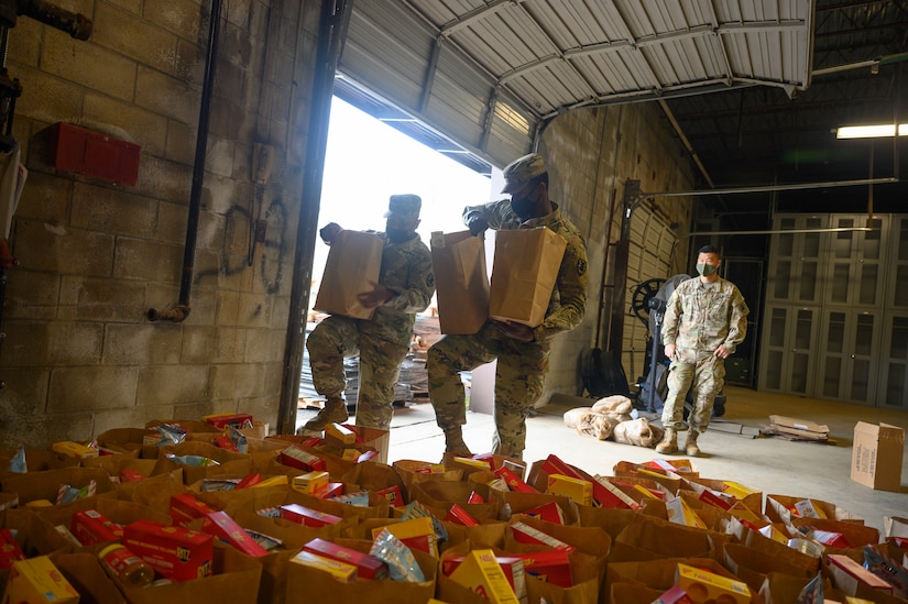
M371 292L373 286L369 282L379 281L383 246L373 233L340 231L335 235L314 308L330 315L371 319L374 309L364 308L357 295Z

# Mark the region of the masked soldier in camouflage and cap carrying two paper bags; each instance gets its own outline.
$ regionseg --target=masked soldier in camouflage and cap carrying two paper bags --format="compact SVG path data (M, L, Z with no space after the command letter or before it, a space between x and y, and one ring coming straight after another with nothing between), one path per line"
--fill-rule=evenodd
M587 246L557 204L548 197L543 158L530 154L504 168L502 193L511 199L468 207L463 220L477 235L488 228L548 227L567 241L546 318L536 328L490 319L473 336L445 336L429 349L429 397L446 451L470 454L461 426L467 422L466 396L459 372L497 359L493 451L519 459L526 443L526 417L543 394L551 337L577 327L587 307Z

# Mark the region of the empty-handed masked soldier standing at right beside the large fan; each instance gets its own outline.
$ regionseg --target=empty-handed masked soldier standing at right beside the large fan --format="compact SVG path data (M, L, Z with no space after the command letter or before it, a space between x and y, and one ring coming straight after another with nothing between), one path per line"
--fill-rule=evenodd
M700 277L681 283L668 299L661 336L671 367L663 408L665 438L656 446L658 453L678 451L677 430L683 427L685 398L692 383L693 411L688 417L685 451L691 457L700 454L697 437L709 426L713 400L725 383L725 359L747 333L750 309L737 287L719 277L721 264L715 248L701 248L697 256Z

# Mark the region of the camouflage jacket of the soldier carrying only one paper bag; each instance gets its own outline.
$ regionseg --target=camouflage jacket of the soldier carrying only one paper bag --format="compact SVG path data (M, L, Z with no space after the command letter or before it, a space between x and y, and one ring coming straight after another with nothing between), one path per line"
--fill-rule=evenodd
M363 321L361 330L383 340L409 344L416 314L428 308L435 294L431 254L419 235L392 243L385 233L375 234L384 241L379 283L391 289L394 297L378 307L372 319Z

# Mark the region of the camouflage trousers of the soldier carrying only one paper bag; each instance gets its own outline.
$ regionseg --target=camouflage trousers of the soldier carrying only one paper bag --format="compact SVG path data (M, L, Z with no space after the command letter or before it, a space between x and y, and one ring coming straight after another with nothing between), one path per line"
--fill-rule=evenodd
M357 425L387 430L394 415L394 386L408 347L360 330L360 321L331 316L306 339L313 385L328 399L340 398L347 387L343 359L360 355Z

